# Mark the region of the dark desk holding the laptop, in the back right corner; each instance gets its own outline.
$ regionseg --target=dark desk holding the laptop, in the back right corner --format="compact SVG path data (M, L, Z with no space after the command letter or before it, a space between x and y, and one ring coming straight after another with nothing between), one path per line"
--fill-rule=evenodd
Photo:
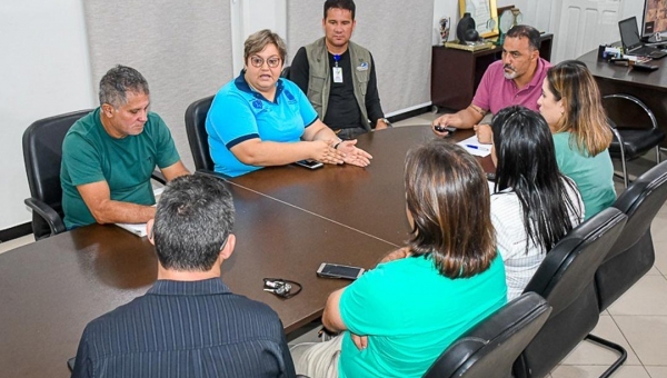
M667 58L648 62L658 69L646 72L598 60L597 56L598 49L595 49L577 59L586 63L601 94L625 93L638 98L654 112L658 127L667 132ZM638 107L629 106L627 101L623 105L606 108L617 123L643 128L650 126L648 116ZM667 147L667 140L663 141L661 147Z

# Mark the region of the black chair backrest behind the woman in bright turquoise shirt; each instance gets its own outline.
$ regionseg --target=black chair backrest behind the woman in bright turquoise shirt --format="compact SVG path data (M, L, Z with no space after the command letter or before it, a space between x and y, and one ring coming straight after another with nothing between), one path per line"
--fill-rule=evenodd
M514 360L549 312L551 307L535 292L515 298L459 337L424 377L510 377Z

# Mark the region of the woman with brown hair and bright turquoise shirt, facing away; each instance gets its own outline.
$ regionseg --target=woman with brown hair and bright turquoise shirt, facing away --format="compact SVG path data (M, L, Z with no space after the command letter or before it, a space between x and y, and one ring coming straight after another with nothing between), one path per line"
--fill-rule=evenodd
M506 302L477 159L432 140L408 152L405 187L408 246L329 296L322 324L341 335L292 347L297 374L421 377L445 348Z

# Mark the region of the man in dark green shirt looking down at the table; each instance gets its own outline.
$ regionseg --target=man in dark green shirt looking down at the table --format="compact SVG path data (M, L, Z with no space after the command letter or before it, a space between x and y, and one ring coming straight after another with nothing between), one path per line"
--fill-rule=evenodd
M167 180L188 175L160 116L149 112L148 82L117 66L100 80L100 107L78 120L62 142L60 180L68 229L90 223L142 223L156 199L156 166Z

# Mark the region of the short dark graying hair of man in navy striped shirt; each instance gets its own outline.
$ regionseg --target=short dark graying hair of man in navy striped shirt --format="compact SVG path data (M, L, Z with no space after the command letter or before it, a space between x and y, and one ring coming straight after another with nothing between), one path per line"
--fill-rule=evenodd
M233 201L222 181L187 175L170 181L153 226L158 260L166 269L208 271L233 227Z

